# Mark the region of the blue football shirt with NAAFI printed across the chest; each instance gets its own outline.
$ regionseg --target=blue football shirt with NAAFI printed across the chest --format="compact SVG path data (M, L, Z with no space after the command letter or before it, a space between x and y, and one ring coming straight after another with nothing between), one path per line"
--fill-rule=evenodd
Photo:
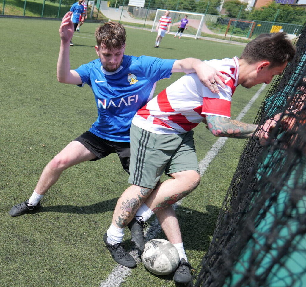
M98 108L98 118L89 131L106 140L129 142L132 118L152 98L155 83L171 76L174 61L124 55L115 72L105 71L100 59L77 68Z

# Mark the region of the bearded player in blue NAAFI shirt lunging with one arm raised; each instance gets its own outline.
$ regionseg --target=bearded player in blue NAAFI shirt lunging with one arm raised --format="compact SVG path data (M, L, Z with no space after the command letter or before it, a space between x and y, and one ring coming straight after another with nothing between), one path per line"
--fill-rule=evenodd
M115 152L123 168L129 172L131 121L137 110L151 99L156 81L170 77L172 72L196 72L211 91L219 91L217 83L224 87L220 79L222 74L195 58L164 60L124 55L126 33L116 22L106 22L96 29L95 50L99 58L72 70L69 60L69 43L74 33L71 15L72 12L66 13L59 29L61 45L57 78L61 83L90 85L98 118L89 131L70 142L47 164L32 196L13 206L9 211L11 216L36 212L43 195L62 172L80 162L95 161ZM121 248L117 246L116 252L120 253ZM130 255L125 252L124 256Z

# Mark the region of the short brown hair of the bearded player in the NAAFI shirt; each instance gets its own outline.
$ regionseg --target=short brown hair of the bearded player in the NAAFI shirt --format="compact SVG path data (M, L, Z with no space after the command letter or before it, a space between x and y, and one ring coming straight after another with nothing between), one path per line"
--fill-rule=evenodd
M125 45L126 31L120 23L109 21L96 28L95 38L99 48L122 49Z

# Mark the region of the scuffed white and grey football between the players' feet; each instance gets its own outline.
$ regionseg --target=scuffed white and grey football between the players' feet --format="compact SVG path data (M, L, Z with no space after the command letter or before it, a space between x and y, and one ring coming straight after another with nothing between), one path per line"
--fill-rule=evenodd
M152 239L141 254L144 266L157 275L168 275L176 270L180 257L172 243L165 239Z

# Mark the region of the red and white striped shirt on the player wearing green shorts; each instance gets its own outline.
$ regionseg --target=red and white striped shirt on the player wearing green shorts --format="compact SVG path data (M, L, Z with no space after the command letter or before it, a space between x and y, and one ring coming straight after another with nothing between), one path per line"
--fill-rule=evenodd
M238 58L205 61L228 78L222 79L226 87L212 93L199 80L196 73L182 76L134 116L137 127L158 134L185 133L196 127L206 115L230 118L232 95L239 77Z

